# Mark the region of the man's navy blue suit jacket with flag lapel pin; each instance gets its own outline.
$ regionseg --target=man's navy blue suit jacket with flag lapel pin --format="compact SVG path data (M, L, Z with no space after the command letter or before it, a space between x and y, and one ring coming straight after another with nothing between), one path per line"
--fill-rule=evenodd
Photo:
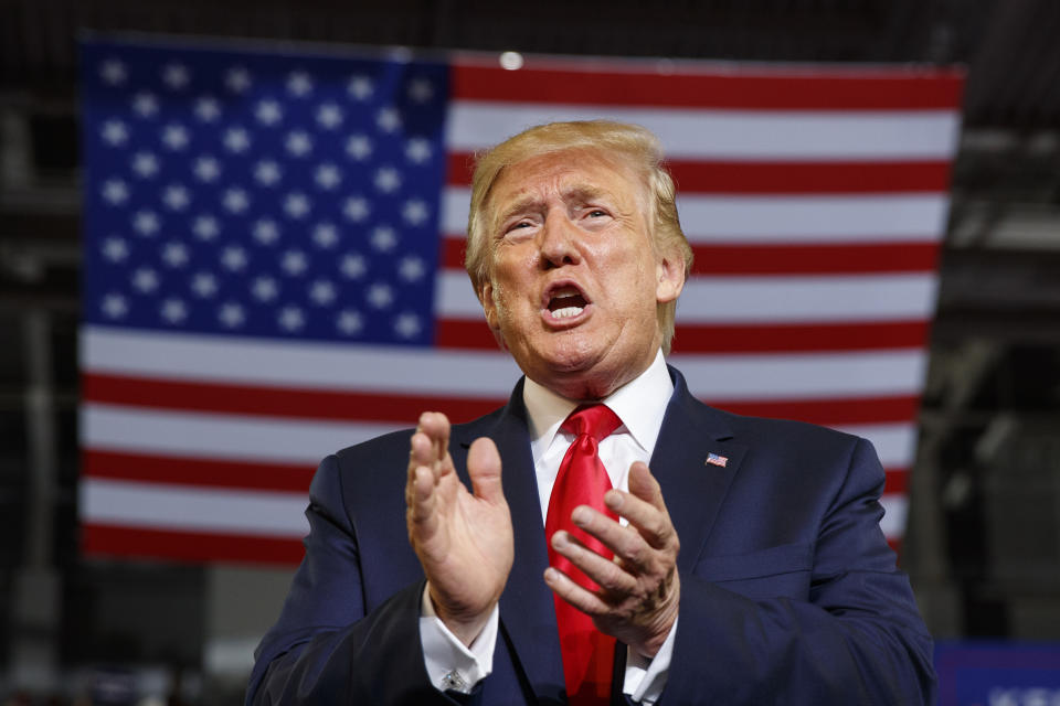
M650 468L681 542L681 602L660 704L930 703L931 638L879 528L871 445L713 409L670 373ZM494 672L470 697L488 705L566 703L527 429L520 382L506 407L455 425L451 439L465 483L470 442L497 443L515 527ZM424 668L424 576L405 530L410 436L320 464L306 557L256 652L247 704L468 700L434 689ZM709 453L727 464L706 463Z

